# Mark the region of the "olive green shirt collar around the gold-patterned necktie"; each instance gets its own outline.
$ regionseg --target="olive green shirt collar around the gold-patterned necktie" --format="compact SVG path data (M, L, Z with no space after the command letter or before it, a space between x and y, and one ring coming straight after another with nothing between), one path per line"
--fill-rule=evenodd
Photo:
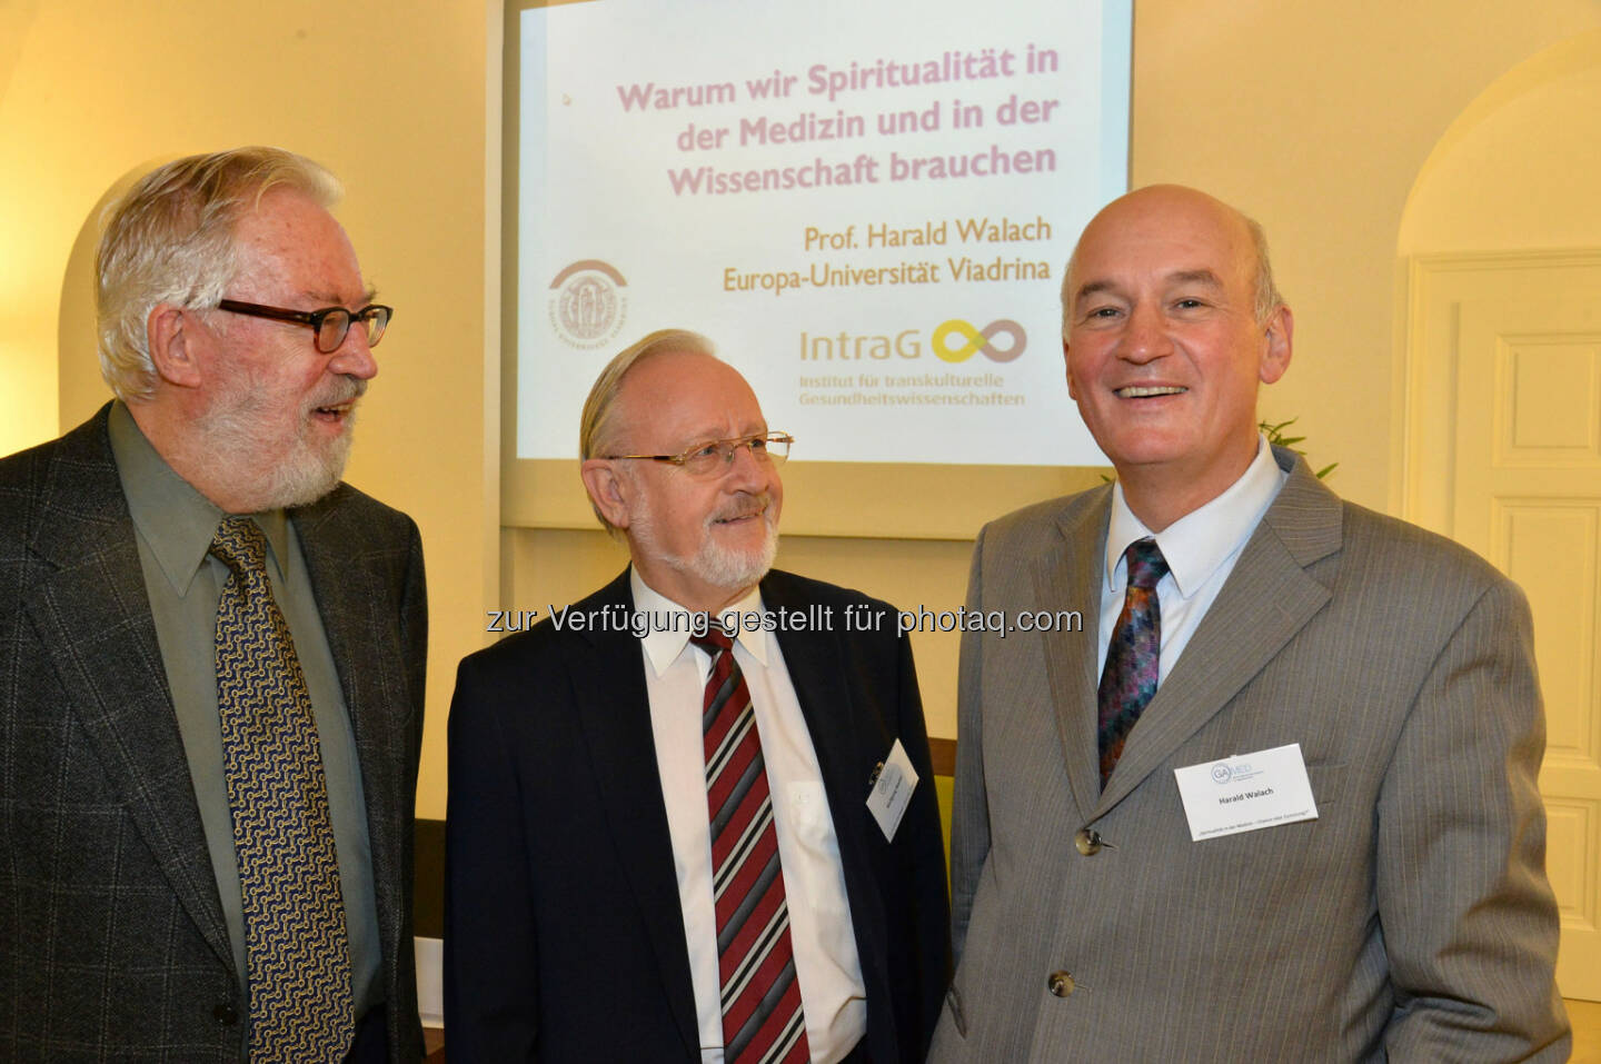
M173 472L146 438L122 400L112 403L106 422L110 453L117 461L128 515L144 536L167 582L183 597L211 550L223 510ZM288 576L288 517L283 510L251 514L267 538L279 573Z

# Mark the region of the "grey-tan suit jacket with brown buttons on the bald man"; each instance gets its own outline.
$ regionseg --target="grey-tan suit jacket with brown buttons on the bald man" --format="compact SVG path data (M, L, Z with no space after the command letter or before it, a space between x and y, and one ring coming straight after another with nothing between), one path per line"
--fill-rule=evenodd
M964 637L932 1061L1566 1059L1524 597L1276 458L1289 482L1105 794L1111 488L980 534L969 608L1084 626ZM1190 840L1175 768L1290 742L1318 819Z

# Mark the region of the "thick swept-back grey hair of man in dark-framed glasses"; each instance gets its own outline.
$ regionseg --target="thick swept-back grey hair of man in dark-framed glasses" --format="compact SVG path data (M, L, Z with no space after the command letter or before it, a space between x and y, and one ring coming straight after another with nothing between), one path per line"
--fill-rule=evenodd
M94 258L101 376L123 402L155 392L146 323L162 302L213 307L239 270L234 227L272 187L333 206L339 179L279 147L189 155L139 179L107 208Z

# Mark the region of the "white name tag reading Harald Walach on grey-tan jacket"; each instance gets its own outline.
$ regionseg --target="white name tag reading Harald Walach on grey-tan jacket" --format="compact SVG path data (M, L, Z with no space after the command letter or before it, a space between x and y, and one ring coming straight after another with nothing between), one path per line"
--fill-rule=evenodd
M1194 842L1318 819L1300 742L1175 768L1174 778Z

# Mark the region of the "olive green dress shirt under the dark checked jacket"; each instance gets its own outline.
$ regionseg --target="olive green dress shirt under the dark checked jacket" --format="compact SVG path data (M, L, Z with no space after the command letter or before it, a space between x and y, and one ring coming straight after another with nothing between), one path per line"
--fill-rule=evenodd
M216 610L229 571L210 555L210 549L224 514L173 472L122 402L112 405L107 427L139 541L144 589L150 598L162 666L189 757L189 774L211 851L223 915L234 944L234 965L240 986L248 989L234 821L227 805L223 725L216 709ZM267 538L267 579L290 626L317 720L322 768L328 782L328 813L339 859L339 891L344 896L351 939L351 990L355 995L355 1014L362 1016L383 998L383 984L378 979L373 851L367 837L367 800L362 795L355 734L295 523L283 510L253 517Z

